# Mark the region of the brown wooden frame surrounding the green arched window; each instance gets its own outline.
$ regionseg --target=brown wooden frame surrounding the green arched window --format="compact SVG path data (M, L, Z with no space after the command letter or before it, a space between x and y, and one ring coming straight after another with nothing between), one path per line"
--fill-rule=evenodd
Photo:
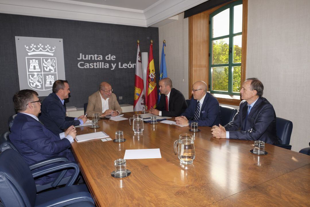
M188 38L189 38L189 65L188 65L188 97L192 96L191 88L193 83L202 80L209 85L209 21L210 14L232 2L225 3L207 11L189 17ZM247 46L247 16L248 0L242 1L242 48L241 48L241 85L246 77L246 46ZM241 88L241 86L240 86ZM209 88L208 88L209 89ZM210 89L209 89L210 90ZM221 104L238 106L241 96L238 98L232 95L213 94ZM225 97L226 96L226 97Z

